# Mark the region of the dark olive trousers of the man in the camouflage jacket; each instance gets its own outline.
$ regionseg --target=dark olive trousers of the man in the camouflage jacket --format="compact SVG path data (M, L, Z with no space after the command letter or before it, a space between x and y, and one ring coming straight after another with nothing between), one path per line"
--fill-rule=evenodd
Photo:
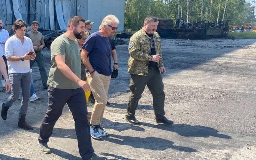
M127 104L127 116L134 116L138 106L139 99L143 93L145 86L148 86L153 96L153 108L156 118L162 118L165 115L165 92L162 75L159 68L149 68L148 76L140 76L130 74L130 90Z

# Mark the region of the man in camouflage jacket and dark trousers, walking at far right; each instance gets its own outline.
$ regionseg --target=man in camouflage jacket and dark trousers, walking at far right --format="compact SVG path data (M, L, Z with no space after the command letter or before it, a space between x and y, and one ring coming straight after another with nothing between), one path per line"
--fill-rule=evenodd
M161 38L155 32L157 26L158 19L156 17L146 17L143 28L132 35L128 46L131 94L127 104L126 119L134 125L140 125L135 118L135 110L146 85L153 96L156 122L173 124L164 116L165 92L161 74L165 74L165 67L161 51Z

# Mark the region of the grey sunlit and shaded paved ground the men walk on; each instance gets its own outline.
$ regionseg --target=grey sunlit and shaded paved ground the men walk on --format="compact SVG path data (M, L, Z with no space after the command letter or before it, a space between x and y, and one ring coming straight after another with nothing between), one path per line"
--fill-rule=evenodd
M111 104L106 107L102 120L109 136L92 140L95 153L122 160L256 159L256 40L162 39L162 52L167 71L163 76L165 111L174 124L156 124L152 96L147 88L136 111L142 125L126 122L129 54L127 45L118 45L119 75L111 80ZM44 48L42 53L49 71L49 48ZM36 63L32 77L36 94L40 96L29 103L27 114L27 122L34 130L18 128L20 101L16 101L8 110L7 120L0 119L0 159L81 159L74 121L67 106L48 144L52 153L39 150L37 138L48 97ZM10 93L2 90L0 95L3 103ZM92 107L89 103L89 113Z

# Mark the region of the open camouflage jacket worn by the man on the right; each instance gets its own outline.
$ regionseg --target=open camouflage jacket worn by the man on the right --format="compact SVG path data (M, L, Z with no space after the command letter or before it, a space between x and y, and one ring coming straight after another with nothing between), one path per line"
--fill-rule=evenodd
M156 54L162 57L161 38L157 32L153 35ZM148 62L152 59L151 39L143 28L134 33L128 46L130 58L128 61L128 73L148 76ZM159 67L163 67L163 59L158 62Z

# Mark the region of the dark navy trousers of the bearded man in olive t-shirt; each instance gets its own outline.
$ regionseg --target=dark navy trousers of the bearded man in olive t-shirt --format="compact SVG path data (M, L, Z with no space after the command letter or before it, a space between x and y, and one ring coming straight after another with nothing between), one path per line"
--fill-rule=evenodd
M75 121L79 153L83 159L91 158L94 155L94 150L91 145L84 90L82 88L58 89L48 86L48 96L48 109L40 127L38 141L42 144L49 142L54 125L62 114L64 105L67 103Z

